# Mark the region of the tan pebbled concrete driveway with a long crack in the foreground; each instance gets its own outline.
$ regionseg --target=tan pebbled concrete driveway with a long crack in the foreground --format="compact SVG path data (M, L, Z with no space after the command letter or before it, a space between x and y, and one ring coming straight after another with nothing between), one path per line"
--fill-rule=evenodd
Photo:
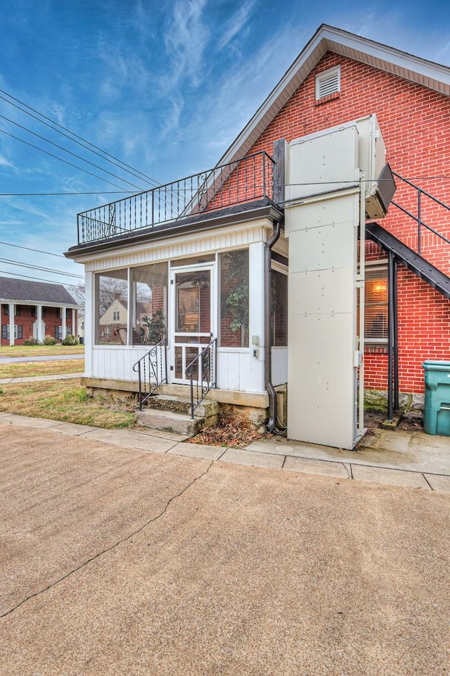
M1 674L449 672L450 494L0 442Z

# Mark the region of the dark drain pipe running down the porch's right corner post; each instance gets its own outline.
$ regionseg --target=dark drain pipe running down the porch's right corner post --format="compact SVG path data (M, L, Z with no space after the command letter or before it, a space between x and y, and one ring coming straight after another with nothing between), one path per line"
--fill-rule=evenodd
M280 237L281 223L274 221L274 234L264 246L264 384L269 394L269 422L267 432L273 432L276 425L276 391L272 384L271 345L271 249Z

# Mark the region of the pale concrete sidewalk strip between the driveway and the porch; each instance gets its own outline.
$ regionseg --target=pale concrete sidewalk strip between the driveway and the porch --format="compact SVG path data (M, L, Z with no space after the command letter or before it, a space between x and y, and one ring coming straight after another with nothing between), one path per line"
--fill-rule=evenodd
M186 437L180 434L145 427L105 430L8 413L0 413L0 424L48 430L152 453L450 492L450 439L431 437L424 432L375 430L356 451L293 442L283 437L261 439L245 449L233 449L186 443Z

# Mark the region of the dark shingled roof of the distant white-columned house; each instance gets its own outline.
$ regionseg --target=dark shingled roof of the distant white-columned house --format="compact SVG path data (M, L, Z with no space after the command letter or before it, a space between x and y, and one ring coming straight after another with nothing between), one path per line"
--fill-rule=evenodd
M56 306L79 307L63 284L11 280L9 277L0 277L0 301L34 301Z

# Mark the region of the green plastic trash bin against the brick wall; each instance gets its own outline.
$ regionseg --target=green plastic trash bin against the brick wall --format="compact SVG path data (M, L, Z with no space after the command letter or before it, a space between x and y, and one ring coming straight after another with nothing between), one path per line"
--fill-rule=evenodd
M424 361L425 408L423 429L427 434L450 437L450 361Z

